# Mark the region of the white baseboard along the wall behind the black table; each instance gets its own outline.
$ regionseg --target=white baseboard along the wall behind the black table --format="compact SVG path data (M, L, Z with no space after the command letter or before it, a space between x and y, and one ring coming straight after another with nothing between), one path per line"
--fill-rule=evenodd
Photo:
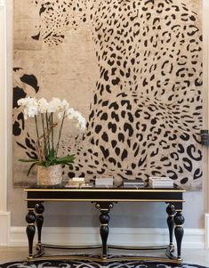
M25 227L12 227L10 246L27 247ZM43 241L56 245L100 244L99 228L44 227ZM36 242L36 238L35 238ZM109 244L127 246L156 246L168 243L168 231L161 228L111 228ZM185 229L182 248L205 248L205 231Z

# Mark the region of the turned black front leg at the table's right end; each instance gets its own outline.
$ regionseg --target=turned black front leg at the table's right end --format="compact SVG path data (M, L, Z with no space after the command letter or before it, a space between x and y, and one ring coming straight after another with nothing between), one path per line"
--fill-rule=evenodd
M181 214L181 211L178 211L176 215L174 215L174 223L175 223L175 238L176 238L176 244L177 244L177 257L179 260L181 260L181 241L183 239L183 227L182 224L184 223L184 217Z

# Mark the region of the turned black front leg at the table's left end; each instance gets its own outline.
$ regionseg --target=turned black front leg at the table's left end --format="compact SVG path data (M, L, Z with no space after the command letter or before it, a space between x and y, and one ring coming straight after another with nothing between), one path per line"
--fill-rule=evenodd
M36 215L33 210L29 210L28 214L26 215L26 222L28 223L26 228L26 233L28 236L28 258L33 257L33 240L35 235L35 222L36 222Z

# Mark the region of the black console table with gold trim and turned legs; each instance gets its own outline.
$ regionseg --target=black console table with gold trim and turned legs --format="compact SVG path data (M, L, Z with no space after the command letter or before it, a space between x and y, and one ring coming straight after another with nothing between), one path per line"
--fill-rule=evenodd
M64 187L32 187L25 189L27 192L28 214L26 215L27 236L28 236L28 258L27 262L41 260L69 260L78 259L78 256L44 256L44 248L101 248L100 256L79 256L79 259L94 260L99 262L112 262L115 260L141 260L141 261L160 261L164 263L182 264L181 259L181 240L183 237L184 217L182 215L183 192L181 189L129 189L129 188L91 188L91 189L69 189ZM90 201L95 203L95 207L100 209L100 238L101 245L91 245L89 247L65 247L53 246L42 243L41 234L44 223L44 202L56 201ZM169 244L159 247L122 247L108 244L109 236L109 211L115 202L165 202L167 225L169 230ZM36 223L36 227L35 227ZM33 255L33 240L37 229L38 242L36 254ZM173 231L176 239L177 254L174 255ZM150 250L165 249L165 257L157 256L111 256L109 258L108 249L131 249L131 250Z

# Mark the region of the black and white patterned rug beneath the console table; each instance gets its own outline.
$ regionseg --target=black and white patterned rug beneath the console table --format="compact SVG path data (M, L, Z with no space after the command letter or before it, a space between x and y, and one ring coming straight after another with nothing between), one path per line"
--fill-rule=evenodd
M40 262L36 264L24 264L22 262L12 262L0 264L0 268L208 268L197 264L159 264L141 263L139 261L114 262L109 264L99 264L94 262L70 261L70 262Z

